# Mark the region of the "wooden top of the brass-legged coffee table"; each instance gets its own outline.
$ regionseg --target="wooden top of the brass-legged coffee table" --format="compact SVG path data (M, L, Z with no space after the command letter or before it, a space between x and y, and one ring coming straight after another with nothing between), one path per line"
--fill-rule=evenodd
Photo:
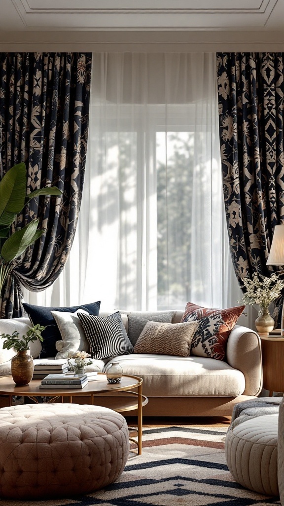
M48 396L48 397L69 397L75 395L94 395L110 392L120 392L137 388L143 383L143 380L138 376L130 376L123 374L120 383L108 383L107 375L103 372L98 373L98 379L89 381L88 384L80 388L44 388L40 389L41 379L32 379L28 385L24 387L17 387L13 381L12 376L0 377L0 395L27 395L27 396Z

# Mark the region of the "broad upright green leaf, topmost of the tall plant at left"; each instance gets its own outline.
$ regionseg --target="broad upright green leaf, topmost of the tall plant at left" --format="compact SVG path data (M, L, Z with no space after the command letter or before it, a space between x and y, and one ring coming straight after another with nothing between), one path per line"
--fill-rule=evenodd
M26 177L25 164L18 163L11 167L0 181L0 225L11 225L14 221L14 219L11 221L12 215L20 213L24 207Z

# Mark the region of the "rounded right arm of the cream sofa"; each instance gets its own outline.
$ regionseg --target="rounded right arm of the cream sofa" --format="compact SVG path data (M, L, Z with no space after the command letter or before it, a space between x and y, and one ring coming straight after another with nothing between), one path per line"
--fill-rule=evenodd
M247 327L235 325L227 342L227 363L242 371L244 395L258 395L262 389L261 342L259 335Z

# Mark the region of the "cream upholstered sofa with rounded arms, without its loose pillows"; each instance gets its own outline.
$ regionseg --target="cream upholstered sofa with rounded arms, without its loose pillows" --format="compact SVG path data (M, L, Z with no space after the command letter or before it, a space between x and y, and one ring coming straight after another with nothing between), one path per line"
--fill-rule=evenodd
M120 311L128 332L129 315L147 318L147 312ZM165 312L163 312L165 313ZM100 313L107 316L109 313ZM161 312L151 313L151 315ZM183 312L174 311L172 323L181 321ZM17 330L20 336L30 327L28 318L0 320L0 334ZM13 350L3 350L0 340L0 375L11 374ZM40 361L41 344L31 343L35 363ZM262 361L259 335L240 325L229 334L225 360L171 355L122 355L93 360L87 370L106 371L119 364L124 374L143 378L143 394L149 398L146 416L230 416L238 402L255 398L262 389ZM74 402L82 403L81 397ZM103 399L104 401L104 399ZM133 412L131 412L132 414Z

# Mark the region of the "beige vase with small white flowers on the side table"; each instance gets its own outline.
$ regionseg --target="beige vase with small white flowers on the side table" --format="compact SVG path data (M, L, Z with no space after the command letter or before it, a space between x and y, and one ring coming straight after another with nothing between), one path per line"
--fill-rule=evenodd
M254 273L252 279L243 278L242 281L246 289L242 302L247 305L257 304L260 306L255 326L259 333L268 335L275 324L269 314L268 306L280 296L284 288L284 281L279 279L276 274L272 274L269 278L258 273Z

